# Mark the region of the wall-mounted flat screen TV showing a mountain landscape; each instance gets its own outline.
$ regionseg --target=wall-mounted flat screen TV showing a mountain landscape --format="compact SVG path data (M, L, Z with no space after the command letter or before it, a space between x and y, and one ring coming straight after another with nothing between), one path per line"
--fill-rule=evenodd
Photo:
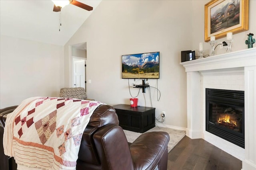
M122 55L122 78L159 78L160 52Z

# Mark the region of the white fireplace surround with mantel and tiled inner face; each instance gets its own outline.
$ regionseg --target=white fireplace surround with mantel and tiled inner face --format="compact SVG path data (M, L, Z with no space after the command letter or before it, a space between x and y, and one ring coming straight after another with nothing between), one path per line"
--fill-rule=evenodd
M187 129L242 160L242 170L256 170L256 48L180 63L187 73ZM244 91L245 149L206 131L205 89Z

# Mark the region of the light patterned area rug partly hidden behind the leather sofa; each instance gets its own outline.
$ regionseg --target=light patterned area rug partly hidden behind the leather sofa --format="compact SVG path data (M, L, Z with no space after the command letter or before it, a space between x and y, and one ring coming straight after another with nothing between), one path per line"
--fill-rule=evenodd
M149 129L146 132L156 132L156 131L164 131L170 135L170 141L168 143L168 152L170 152L170 150L172 150L175 147L175 145L177 145L177 143L186 134L186 131L179 131L179 130L169 129L165 127L158 127L158 126L153 127L152 129ZM137 139L140 135L142 135L142 133L127 131L127 130L124 130L124 134L126 135L126 139L129 143L133 143L135 139Z

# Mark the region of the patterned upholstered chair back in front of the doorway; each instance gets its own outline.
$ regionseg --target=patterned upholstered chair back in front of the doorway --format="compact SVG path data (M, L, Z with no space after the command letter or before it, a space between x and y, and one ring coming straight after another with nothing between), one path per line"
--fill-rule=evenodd
M82 87L70 87L70 88L61 88L60 89L61 98L75 98L81 100L94 100L88 99L85 89Z

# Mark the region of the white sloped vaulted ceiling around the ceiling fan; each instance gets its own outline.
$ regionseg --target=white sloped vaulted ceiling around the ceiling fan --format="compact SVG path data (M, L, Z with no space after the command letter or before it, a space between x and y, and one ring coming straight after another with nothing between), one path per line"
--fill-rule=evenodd
M53 12L54 4L51 0L0 0L0 33L32 41L65 45L101 2L78 1L92 6L93 10L87 11L69 4L62 8L60 13Z

